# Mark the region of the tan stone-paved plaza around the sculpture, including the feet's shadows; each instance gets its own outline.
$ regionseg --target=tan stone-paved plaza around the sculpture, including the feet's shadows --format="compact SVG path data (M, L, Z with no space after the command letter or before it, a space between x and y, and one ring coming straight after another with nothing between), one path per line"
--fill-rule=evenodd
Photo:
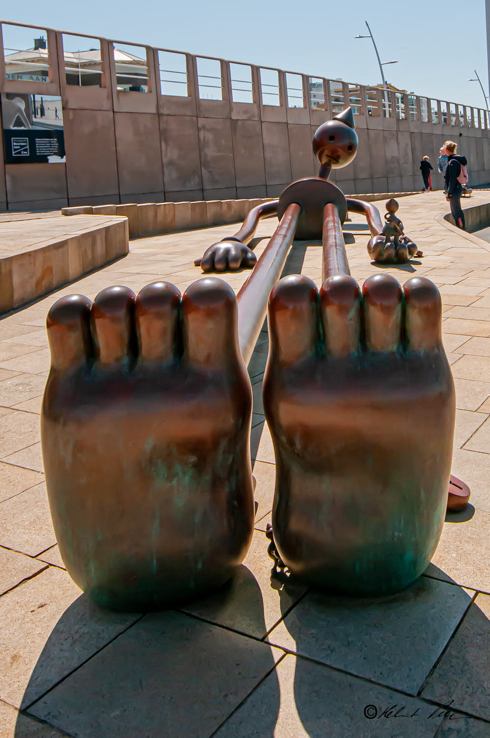
M39 441L46 313L62 295L94 298L113 284L137 292L164 279L183 291L200 276L193 260L233 226L131 241L125 258L0 321L0 738L490 735L490 244L441 222L448 208L440 192L400 199L424 252L402 266L370 263L365 221L345 224L359 283L386 271L401 282L425 275L441 291L458 408L452 472L472 490L472 504L446 516L424 576L395 596L348 599L271 579L265 327L249 364L255 534L238 576L179 611L121 614L91 604L63 568ZM276 225L260 224L257 255ZM321 255L320 242L296 242L283 273L320 286ZM238 291L249 273L223 278Z

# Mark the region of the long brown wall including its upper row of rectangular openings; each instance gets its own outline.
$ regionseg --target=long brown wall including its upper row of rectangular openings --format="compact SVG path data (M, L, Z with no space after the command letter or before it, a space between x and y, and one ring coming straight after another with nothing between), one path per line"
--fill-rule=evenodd
M396 89L385 104L379 86L2 21L0 93L4 210L277 196L317 173L312 135L349 105L346 194L420 190L446 139L490 182L487 111Z

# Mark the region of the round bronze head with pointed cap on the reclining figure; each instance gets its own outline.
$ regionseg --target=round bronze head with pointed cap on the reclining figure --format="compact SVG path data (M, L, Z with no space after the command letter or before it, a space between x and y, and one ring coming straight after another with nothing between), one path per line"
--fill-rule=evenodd
M351 163L359 143L355 128L352 108L346 108L317 128L313 152L320 164L340 169Z

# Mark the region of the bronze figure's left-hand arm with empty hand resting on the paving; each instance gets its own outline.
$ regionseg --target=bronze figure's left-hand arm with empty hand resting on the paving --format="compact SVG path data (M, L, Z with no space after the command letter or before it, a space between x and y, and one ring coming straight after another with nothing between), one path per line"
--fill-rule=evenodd
M196 259L194 264L201 266L203 272L224 272L227 269L236 272L241 266L252 269L257 258L247 244L255 235L258 221L268 215L277 214L278 203L278 200L272 200L253 207L246 215L241 229L235 235L227 236L217 244L210 246L200 259Z

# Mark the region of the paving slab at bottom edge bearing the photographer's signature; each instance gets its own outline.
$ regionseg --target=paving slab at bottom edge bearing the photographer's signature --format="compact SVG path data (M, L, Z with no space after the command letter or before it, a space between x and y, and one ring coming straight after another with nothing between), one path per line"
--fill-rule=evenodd
M370 715L391 706L398 719L365 717L365 708ZM433 738L441 725L441 717L428 718L434 711L423 700L288 655L215 738Z

